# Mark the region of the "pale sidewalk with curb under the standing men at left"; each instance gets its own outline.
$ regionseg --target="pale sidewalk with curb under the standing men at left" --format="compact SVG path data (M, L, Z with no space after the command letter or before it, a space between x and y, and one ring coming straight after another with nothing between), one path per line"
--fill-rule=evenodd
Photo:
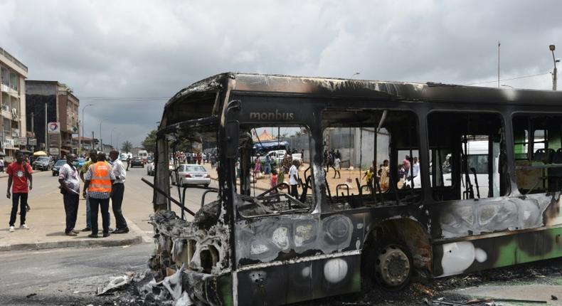
M43 175L50 174L45 174L45 172L43 172ZM35 191L35 189L33 189L33 191ZM100 227L100 238L88 238L91 232L80 232L78 236L66 236L64 233L65 211L63 199L58 189L43 194L38 194L33 191L28 200L31 211L28 211L26 216L26 223L30 227L29 230L18 228L20 217L18 215L16 218L16 231L10 233L7 222L10 216L11 204L6 203L6 205L0 206L0 216L3 216L1 220L6 222L0 226L0 251L90 246L127 246L134 243L142 243L143 238L146 241L146 234L129 220L127 220L129 233L112 234L107 238L102 238ZM5 199L5 201L11 200ZM85 228L85 204L85 199L80 199L78 221L75 227L78 231ZM98 222L101 223L101 217L99 217ZM111 227L115 228L113 213L111 213Z

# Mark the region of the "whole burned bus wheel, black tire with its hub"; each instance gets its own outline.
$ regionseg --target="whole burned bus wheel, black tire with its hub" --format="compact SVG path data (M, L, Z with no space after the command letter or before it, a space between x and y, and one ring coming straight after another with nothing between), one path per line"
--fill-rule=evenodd
M388 291L402 290L410 283L413 274L412 255L405 243L396 238L381 237L367 250L366 276Z

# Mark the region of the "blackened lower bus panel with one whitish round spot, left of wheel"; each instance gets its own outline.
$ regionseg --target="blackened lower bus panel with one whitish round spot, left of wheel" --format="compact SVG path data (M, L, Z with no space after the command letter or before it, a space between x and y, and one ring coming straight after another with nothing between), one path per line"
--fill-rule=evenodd
M238 272L238 305L285 305L359 290L361 255Z

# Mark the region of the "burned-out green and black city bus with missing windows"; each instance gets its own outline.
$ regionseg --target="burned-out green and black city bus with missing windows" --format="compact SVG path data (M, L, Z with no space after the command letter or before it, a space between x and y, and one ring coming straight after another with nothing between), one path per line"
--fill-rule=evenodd
M296 196L287 174L275 188L251 179L252 134L264 127L307 134ZM362 159L378 167L384 152L388 189L376 179L364 188L365 169L351 167L345 184L332 181L332 128L371 131ZM208 139L218 147L218 187L171 187L178 144ZM469 161L470 142L483 144L481 159ZM412 152L419 179L400 184L398 165ZM366 278L400 290L418 275L562 255L561 93L223 73L166 103L155 157L150 266L160 278L180 273L182 290L208 305L283 305L358 291ZM475 186L470 168L484 159L486 186Z

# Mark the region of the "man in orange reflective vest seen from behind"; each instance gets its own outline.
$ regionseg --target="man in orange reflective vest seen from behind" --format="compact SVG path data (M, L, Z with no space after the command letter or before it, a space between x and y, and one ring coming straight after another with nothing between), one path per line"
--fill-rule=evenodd
M92 233L90 238L97 238L97 211L102 211L103 236L110 236L110 195L115 181L110 164L105 162L105 153L97 154L97 162L88 168L84 181L84 196L88 190L90 213L92 216Z

